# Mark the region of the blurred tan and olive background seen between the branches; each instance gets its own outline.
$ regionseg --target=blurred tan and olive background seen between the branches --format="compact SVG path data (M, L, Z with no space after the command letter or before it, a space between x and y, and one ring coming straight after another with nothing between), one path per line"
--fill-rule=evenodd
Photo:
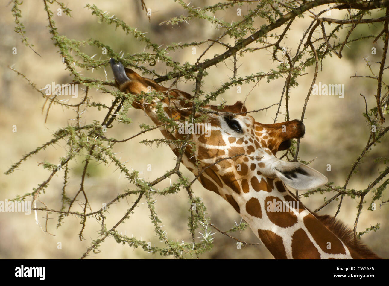
M159 25L172 17L178 17L184 13L182 7L173 1L154 1L145 0L147 8L151 9L150 22L146 16L146 11L142 10L140 1L115 1L107 2L103 0L70 0L67 2L68 7L72 9L72 18L65 16L54 16L58 32L66 35L70 39L85 40L89 38L98 39L104 44L110 46L117 53L124 51L125 53L138 53L143 51L144 44L139 43L131 36L125 35L119 28L115 31L113 25L99 23L98 19L91 15L91 11L84 8L86 4L95 4L103 11L109 11L110 15L115 15L119 19L125 21L128 25L138 28L142 32L147 32L147 37L153 42L160 45L169 45L173 42L193 42L207 39L216 39L221 33L216 25L211 26L207 21L198 20L184 23L176 26ZM198 0L192 1L190 5L194 7L203 7L211 5L216 1ZM13 163L19 161L22 156L34 150L37 146L51 140L52 133L58 128L73 124L72 119L75 118L75 111L72 109L64 109L61 106L52 106L49 112L47 123L45 124L46 109L42 112L44 98L31 88L28 81L18 76L15 72L7 68L12 66L19 72L23 73L31 82L36 84L38 89L44 88L46 84L56 82L65 84L70 82L72 78L69 72L64 69L61 62L58 49L54 47L51 35L47 29L47 14L44 11L44 6L41 2L26 1L21 6L23 18L21 21L26 26L26 35L29 42L34 45L34 49L42 56L35 54L30 48L21 43L21 37L14 32L14 18L11 14L11 5L0 11L0 42L1 50L0 61L2 69L0 70L0 81L2 93L0 93L0 200L6 198L11 199L16 195L23 195L32 192L39 184L47 179L50 172L44 170L38 163L49 161L55 163L60 156L65 155L65 150L62 148L64 142L58 145L48 147L24 162L18 170L15 170L11 175L4 175L4 172L11 167ZM55 8L55 9L54 9ZM235 6L230 10L217 12L216 17L223 19L226 22L237 21L241 16L237 16L237 8L242 9L242 15L247 14L247 6ZM53 11L57 7L52 6ZM325 9L325 8L323 8ZM343 11L332 11L331 18L343 19ZM308 13L305 14L306 16ZM287 47L287 50L294 55L296 47L305 29L308 27L311 18L296 18L291 29L287 33L287 38L282 42L282 46ZM260 21L255 23L256 27L260 27L264 23ZM281 27L282 28L282 27ZM382 30L382 25L359 25L355 34L371 35L377 34ZM281 32L281 30L277 30ZM340 32L344 37L347 31ZM364 112L364 100L360 93L366 96L368 107L372 108L375 104L374 94L377 86L376 81L372 79L350 78L352 75L370 75L366 67L364 57L372 62L380 61L382 56L382 41L378 40L377 44L372 44L372 39L366 39L355 44L351 43L343 50L344 57L327 57L323 61L322 70L319 70L317 83L321 81L326 84L345 84L345 97L331 95L311 95L305 113L305 137L301 139L300 157L305 161L315 159L311 167L319 170L329 179L329 182L335 182L335 185L343 186L345 178L350 171L350 168L356 158L361 153L369 136L370 129L366 124L366 120L362 113ZM228 39L230 44L233 40ZM17 54L12 54L12 48L17 48ZM182 50L174 51L169 54L173 60L179 61L181 64L189 62L195 63L198 56L203 53L207 45L197 47L196 54L192 54L191 47ZM250 47L255 47L251 45ZM377 54L371 54L371 48L376 47ZM86 47L85 51L91 56L98 53L96 57L100 57L101 50L95 47ZM214 54L221 54L225 51L223 47L214 46L203 59L212 58ZM258 71L267 72L270 68L276 69L278 63L272 61L272 51L260 50L255 53L248 53L238 60L238 76L244 77ZM280 58L282 55L279 53ZM102 55L102 58L107 57ZM227 60L219 63L217 67L211 67L207 71L209 76L205 78L203 89L207 92L216 91L224 82L232 77L231 68L233 63ZM159 74L166 74L168 68L160 61L154 68ZM103 69L81 70L81 74L93 76L105 80ZM113 79L112 72L109 68L106 70L109 80ZM289 112L291 119L300 119L303 109L304 100L307 96L309 86L312 81L313 68L307 69L307 75L300 78L297 88L290 91ZM378 74L378 65L375 72ZM147 76L149 77L149 76ZM385 76L384 81L388 80ZM169 86L170 82L164 82L165 86ZM247 94L250 93L254 83L243 84L242 93L237 93L237 87L233 86L230 90L219 97L219 104L222 98L228 104L234 104L237 100L245 100ZM284 78L277 79L272 82L266 82L262 79L251 91L247 98L246 106L249 110L260 109L270 104L279 102L282 87L284 86ZM191 93L194 89L193 82L178 82L177 88ZM82 90L79 89L79 94L82 96ZM93 100L110 105L112 96L101 93L100 91L90 91ZM68 103L78 103L78 99L73 99L70 95L61 96L61 99L69 99ZM268 109L267 111L251 114L256 121L261 123L273 123L277 106ZM284 104L281 112L285 112ZM90 124L93 120L102 121L105 112L98 112L97 109L88 109L83 114L83 124ZM116 139L125 139L140 131L138 124L147 123L152 125L151 119L147 118L143 112L131 109L128 112L128 117L133 119L131 125L114 125L107 132L107 137ZM277 122L284 121L284 115L280 114ZM12 126L17 126L17 132L12 132ZM167 146L159 148L145 146L139 144L144 139L161 138L161 133L158 130L147 132L135 140L130 140L125 144L117 144L114 146L115 152L121 152L117 155L121 161L127 161L126 165L131 170L143 172L142 177L147 180L154 180L163 175L166 170L170 170L175 166L174 155ZM365 189L368 184L373 181L379 171L384 169L382 163L375 163L375 158L388 156L388 138L382 139L382 143L368 153L363 158L363 163L359 165L359 172L355 174L349 182L348 188ZM78 163L78 164L77 164ZM72 180L69 183L68 195L74 195L80 184L80 175L82 173L82 157L79 157L77 163L72 163L71 176ZM148 164L151 164L151 171L147 170ZM326 171L327 164L331 164L331 172ZM115 172L116 167L112 164L110 167L105 167L103 164L97 165L96 162L90 163L88 168L89 177L86 178L85 188L89 195L92 210L96 211L101 207L102 202L109 202L119 193L122 193L126 188L133 188L133 185L128 184L124 175L120 176L119 171ZM182 172L189 178L193 179L193 175L181 168ZM172 177L172 181L177 179ZM56 175L51 181L49 188L45 194L40 195L40 200L43 201L51 209L60 209L61 190L63 183L63 173ZM157 188L165 188L169 185L169 180L165 180L158 184ZM378 185L377 185L378 186ZM216 225L221 230L228 230L240 223L241 218L235 212L233 207L224 201L221 197L204 189L199 182L193 185L193 191L198 196L203 198L203 202L208 210L211 223ZM330 198L335 193L320 195L316 194L310 198L303 198L302 201L310 209L316 209L324 203L324 197ZM181 190L177 195L166 197L158 197L156 203L156 211L163 222L164 230L167 235L173 240L184 240L189 242L191 237L187 231L187 217L189 213L187 193ZM371 194L365 197L369 203ZM384 196L387 200L387 195ZM124 214L124 212L135 201L135 197L129 197L128 201L121 200L116 205L109 208L107 226L112 227ZM126 234L133 235L141 240L152 242L152 245L162 246L158 242L158 237L155 237L154 227L149 219L150 212L147 205L142 199L141 204L135 209L134 214L124 224L120 225L117 230ZM342 204L342 209L338 214L338 218L352 227L357 213L357 200L352 200L345 197ZM81 201L77 202L81 204ZM337 208L337 202L333 202L324 207L319 214L334 215ZM42 204L38 204L43 207ZM389 214L389 204L384 204L379 207L377 202L377 210L367 211L368 204L364 205L361 217L358 223L357 231L363 231L366 228L380 223L380 230L377 232L368 233L362 236L362 240L382 258L389 258L389 244L387 235L389 234L389 225L387 217ZM75 205L75 210L81 211L80 205ZM45 212L39 212L39 220L42 225L45 224ZM58 229L58 215L50 214L47 223L47 230L52 234L42 232L39 226L36 225L33 214L26 216L20 212L3 212L0 213L0 258L80 258L90 246L91 241L96 239L100 224L95 218L88 218L87 227L84 231L85 240L78 239L78 233L81 230L80 219L74 216L69 216L64 219L62 226ZM258 242L251 229L247 228L244 232L232 233L247 242ZM200 236L200 234L198 235ZM235 240L232 240L221 233L214 235L214 247L209 253L202 254L200 258L266 258L273 259L273 256L264 246L243 246L242 249L237 249ZM61 242L62 248L58 249L58 242ZM160 244L160 245L159 245ZM101 253L91 253L88 258L161 258L151 253L145 253L142 249L133 249L127 245L117 244L114 239L107 238L99 247ZM169 257L168 257L169 258Z

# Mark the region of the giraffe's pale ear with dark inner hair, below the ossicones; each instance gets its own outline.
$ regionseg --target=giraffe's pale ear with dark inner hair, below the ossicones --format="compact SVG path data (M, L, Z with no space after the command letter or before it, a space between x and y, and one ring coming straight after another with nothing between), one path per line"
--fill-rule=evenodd
M279 160L274 169L276 176L293 189L315 189L328 182L327 177L319 171L299 162Z

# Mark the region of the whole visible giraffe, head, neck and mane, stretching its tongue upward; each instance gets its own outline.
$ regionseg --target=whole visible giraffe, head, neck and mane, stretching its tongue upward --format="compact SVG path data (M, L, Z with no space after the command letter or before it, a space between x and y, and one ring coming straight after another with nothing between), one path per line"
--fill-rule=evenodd
M132 106L143 110L156 125L162 123L161 112L177 122L189 118L193 99L189 93L141 77L113 58L110 65L117 88L137 95ZM166 96L147 96L151 89ZM190 137L196 148L193 154L193 146L186 145L182 163L204 188L230 203L275 259L379 259L354 240L352 231L342 222L309 211L289 191L288 187L307 190L327 182L317 170L275 156L291 146L291 139L303 137L303 123L297 119L258 123L246 114L240 101L223 109L215 105L202 108L194 117L205 115L202 123L209 126L207 132L195 133L192 128L185 134L166 126L159 129L169 140ZM173 142L169 145L179 156L179 147Z

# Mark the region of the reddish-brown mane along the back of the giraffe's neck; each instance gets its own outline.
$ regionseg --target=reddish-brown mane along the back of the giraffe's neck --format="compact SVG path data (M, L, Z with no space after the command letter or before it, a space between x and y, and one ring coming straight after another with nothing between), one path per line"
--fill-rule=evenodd
M331 232L333 232L343 243L354 250L363 259L382 259L375 254L371 249L363 244L361 240L354 239L354 232L345 225L339 219L336 219L329 215L319 216L314 212L311 212L321 223L326 226Z

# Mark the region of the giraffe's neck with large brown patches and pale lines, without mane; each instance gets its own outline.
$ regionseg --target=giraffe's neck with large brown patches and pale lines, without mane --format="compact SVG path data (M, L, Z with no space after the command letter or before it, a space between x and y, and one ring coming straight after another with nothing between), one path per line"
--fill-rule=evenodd
M359 258L299 204L282 181L261 177L251 184L248 193L224 190L221 195L276 259Z

